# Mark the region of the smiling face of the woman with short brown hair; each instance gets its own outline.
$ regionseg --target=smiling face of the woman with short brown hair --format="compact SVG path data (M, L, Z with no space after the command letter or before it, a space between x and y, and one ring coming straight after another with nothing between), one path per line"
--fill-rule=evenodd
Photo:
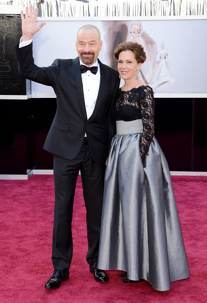
M132 51L123 51L119 54L118 72L124 80L137 79L138 69L142 63L138 63Z

